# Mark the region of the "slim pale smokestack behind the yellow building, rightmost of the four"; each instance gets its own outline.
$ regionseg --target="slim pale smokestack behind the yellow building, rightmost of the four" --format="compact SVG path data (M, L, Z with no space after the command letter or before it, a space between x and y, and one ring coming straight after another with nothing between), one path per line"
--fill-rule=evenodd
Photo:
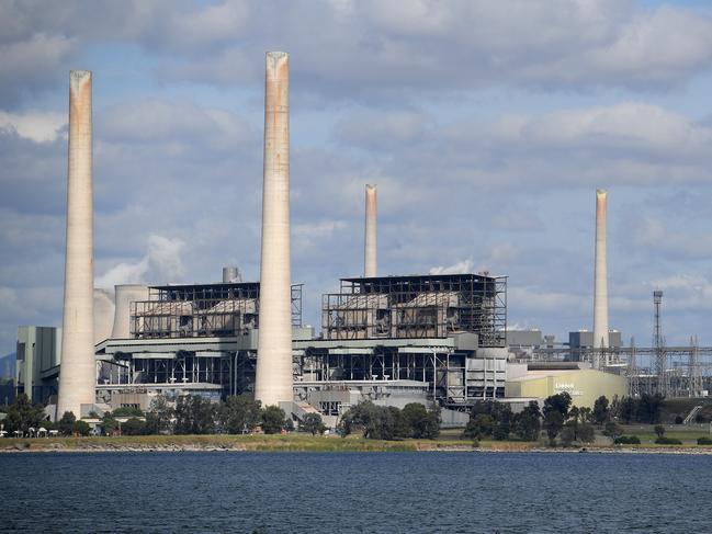
M596 191L596 268L594 274L594 348L608 346L608 262L606 258L606 191ZM607 356L608 357L608 356ZM598 363L598 357L595 359Z

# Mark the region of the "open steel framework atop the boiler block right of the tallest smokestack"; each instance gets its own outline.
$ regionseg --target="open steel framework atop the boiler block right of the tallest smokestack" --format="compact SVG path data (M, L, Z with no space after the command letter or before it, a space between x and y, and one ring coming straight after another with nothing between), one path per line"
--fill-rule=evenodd
M339 293L321 303L325 339L479 337L504 346L507 277L479 274L341 279Z

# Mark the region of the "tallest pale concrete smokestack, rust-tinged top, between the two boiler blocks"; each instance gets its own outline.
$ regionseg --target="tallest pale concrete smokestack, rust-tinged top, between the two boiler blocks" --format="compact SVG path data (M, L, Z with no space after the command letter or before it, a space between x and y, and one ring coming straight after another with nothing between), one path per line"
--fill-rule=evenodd
M290 57L268 52L264 76L262 257L255 398L292 401Z

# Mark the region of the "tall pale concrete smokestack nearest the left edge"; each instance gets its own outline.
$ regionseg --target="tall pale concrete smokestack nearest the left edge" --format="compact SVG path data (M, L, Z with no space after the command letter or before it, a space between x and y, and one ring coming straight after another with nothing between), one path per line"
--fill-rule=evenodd
M57 416L95 399L91 72L69 72L67 250Z

